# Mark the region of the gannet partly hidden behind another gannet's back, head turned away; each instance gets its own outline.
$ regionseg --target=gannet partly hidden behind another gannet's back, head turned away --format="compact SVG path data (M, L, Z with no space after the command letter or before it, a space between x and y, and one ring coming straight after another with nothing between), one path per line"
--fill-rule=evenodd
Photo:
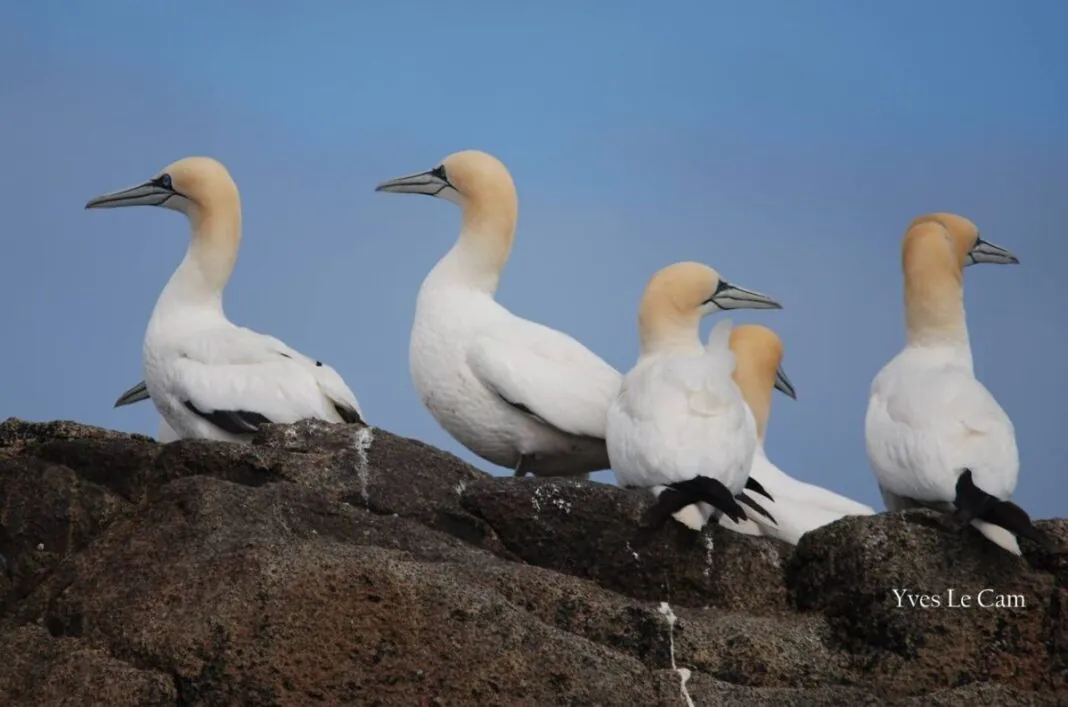
M735 382L756 419L756 453L750 480L759 486L757 492L770 497L765 508L774 516L775 522L759 515L741 522L721 516L720 524L747 535L775 537L797 545L803 534L843 516L874 514L875 509L863 503L789 476L768 459L764 440L772 389L797 399L794 384L782 366L783 343L779 335L760 325L735 327L731 332L731 350L735 355Z

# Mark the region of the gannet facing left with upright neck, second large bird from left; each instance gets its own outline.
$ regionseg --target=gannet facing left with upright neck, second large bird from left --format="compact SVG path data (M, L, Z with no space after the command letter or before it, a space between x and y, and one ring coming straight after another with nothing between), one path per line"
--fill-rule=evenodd
M604 414L619 373L494 299L518 215L504 164L460 152L375 190L440 197L462 211L459 238L420 287L409 344L412 381L438 424L516 475L607 469Z

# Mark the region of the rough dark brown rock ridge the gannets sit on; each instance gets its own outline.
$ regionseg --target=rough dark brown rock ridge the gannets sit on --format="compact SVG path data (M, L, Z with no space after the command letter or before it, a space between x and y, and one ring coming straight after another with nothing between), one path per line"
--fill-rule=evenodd
M9 420L0 704L1068 704L1064 557L927 512L639 537L647 503L356 425Z

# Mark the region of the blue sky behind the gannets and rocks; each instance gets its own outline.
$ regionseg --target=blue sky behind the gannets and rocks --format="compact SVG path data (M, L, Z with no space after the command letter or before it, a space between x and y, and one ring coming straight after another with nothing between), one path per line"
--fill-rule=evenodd
M0 0L0 418L155 433L151 404L111 403L186 224L82 206L206 154L245 206L231 318L329 361L374 424L472 459L407 363L459 214L373 189L481 148L519 187L506 307L626 370L664 265L775 296L733 317L780 333L798 388L769 455L880 508L863 419L902 344L899 239L926 211L972 218L1022 261L965 292L1016 499L1068 515L1068 4L370 4Z

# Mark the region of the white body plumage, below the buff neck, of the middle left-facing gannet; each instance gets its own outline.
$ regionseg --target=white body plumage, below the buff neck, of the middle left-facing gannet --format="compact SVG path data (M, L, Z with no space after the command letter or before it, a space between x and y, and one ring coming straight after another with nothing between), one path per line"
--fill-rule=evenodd
M570 336L457 286L453 257L417 301L409 361L423 404L457 441L502 467L525 460L538 475L606 468L604 414L618 372Z

